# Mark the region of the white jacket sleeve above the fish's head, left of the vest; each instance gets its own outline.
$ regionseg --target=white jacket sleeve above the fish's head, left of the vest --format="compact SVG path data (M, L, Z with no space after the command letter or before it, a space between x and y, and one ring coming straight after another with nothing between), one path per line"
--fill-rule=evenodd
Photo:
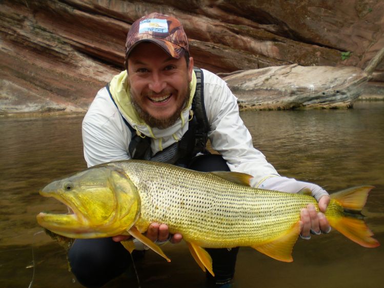
M129 159L130 131L105 88L93 100L83 125L84 158L88 167Z

